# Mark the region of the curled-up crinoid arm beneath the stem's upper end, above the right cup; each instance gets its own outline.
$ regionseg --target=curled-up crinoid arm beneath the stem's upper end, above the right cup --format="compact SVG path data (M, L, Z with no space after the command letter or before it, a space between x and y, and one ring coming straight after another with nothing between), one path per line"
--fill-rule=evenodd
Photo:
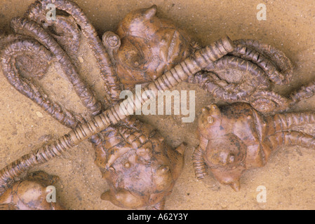
M267 90L270 86L260 67L239 57L224 56L205 70L196 73L189 82L224 102L248 102L255 90Z

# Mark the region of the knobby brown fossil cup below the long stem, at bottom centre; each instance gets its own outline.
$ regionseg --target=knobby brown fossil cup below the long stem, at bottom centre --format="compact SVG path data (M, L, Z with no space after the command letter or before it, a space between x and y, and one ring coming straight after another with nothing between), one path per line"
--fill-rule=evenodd
M150 125L134 118L100 134L95 163L109 183L102 200L128 209L163 209L182 171L185 145L170 148Z

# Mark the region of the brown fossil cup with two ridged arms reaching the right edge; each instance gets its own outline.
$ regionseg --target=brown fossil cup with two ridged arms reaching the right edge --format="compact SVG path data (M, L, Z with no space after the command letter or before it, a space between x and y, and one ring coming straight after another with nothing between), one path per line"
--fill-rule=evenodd
M263 116L246 103L211 104L202 109L198 122L200 144L193 155L196 177L203 179L209 170L234 190L240 189L243 171L263 167L280 146L315 146L314 136L296 129L314 123L314 112Z

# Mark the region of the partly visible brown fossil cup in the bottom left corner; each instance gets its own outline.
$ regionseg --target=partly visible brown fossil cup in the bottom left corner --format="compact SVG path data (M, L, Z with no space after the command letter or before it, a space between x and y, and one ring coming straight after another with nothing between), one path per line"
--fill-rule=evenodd
M16 181L0 197L0 209L6 210L62 210L58 202L47 202L46 188L53 186L58 176L45 172L28 174L25 179Z

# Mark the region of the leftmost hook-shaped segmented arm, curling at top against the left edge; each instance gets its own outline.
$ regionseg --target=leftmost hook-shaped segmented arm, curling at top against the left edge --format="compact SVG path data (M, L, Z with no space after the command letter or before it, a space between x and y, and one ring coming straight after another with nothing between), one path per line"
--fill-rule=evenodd
M51 102L45 94L41 94L39 88L32 82L20 76L18 69L15 67L16 57L18 55L30 53L31 55L41 55L41 57L50 62L53 58L51 52L49 52L43 45L40 45L37 41L30 39L17 39L4 48L1 52L1 67L4 76L8 79L8 82L15 87L20 93L24 94L33 102L41 106L42 109L47 111L58 122L67 127L75 127L77 120L72 116L69 111L62 110L58 104Z

